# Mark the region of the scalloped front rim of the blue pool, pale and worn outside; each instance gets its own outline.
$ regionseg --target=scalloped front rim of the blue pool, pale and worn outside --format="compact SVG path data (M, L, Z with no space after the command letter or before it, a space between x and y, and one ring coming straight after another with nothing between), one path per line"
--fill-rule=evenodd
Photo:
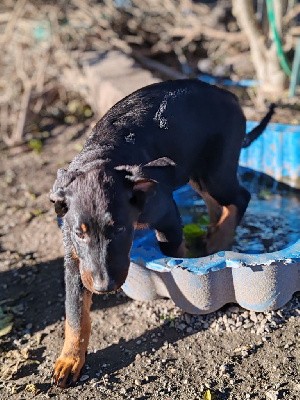
M274 253L225 251L194 259L165 257L157 246L145 248L137 240L123 290L135 300L170 298L191 314L207 314L226 303L275 310L300 290L300 240Z

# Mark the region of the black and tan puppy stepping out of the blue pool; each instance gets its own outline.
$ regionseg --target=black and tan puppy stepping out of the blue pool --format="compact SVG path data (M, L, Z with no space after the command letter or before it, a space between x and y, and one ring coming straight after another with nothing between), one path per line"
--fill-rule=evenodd
M245 117L230 92L196 80L158 83L112 107L68 169L58 171L50 197L63 217L66 327L57 385L79 377L92 293L124 283L135 228L155 229L164 254L184 257L176 188L190 181L207 204L207 254L230 246L250 200L237 179L240 150L272 113L245 138Z

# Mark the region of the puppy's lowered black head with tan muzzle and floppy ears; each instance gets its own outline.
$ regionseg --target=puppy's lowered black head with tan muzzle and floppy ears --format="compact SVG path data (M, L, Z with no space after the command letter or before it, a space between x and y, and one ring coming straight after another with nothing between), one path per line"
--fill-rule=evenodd
M63 217L88 290L109 292L125 282L134 226L157 184L145 170L158 164L106 168L97 161L58 171L50 200Z

